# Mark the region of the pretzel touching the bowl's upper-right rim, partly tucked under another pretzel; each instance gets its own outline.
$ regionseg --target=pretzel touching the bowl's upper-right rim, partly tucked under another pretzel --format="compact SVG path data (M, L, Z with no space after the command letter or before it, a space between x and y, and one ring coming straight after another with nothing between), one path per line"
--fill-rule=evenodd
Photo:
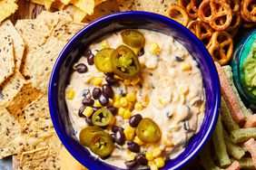
M206 48L210 46L213 30L209 24L203 23L200 20L194 20L187 27L204 43Z

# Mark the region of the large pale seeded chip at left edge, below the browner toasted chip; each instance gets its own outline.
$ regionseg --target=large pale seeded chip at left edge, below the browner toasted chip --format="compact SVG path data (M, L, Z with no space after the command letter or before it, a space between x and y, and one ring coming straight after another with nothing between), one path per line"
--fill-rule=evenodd
M5 108L0 108L0 159L17 154L22 149L22 136L19 123Z

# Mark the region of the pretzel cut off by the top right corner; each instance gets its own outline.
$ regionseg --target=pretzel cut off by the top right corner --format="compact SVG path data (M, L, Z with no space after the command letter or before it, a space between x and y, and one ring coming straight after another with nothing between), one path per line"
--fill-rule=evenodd
M256 1L255 0L242 0L241 11L251 21L256 22Z

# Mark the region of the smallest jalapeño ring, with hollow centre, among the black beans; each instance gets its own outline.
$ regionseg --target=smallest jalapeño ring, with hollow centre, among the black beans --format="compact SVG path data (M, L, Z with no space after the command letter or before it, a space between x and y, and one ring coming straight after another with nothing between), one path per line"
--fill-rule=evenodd
M93 115L94 126L104 127L107 126L113 118L113 114L109 109L98 109Z

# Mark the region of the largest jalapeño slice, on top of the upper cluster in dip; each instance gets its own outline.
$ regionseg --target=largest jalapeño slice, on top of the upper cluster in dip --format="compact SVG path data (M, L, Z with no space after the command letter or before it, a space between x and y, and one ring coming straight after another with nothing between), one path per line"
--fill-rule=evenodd
M113 72L123 79L131 80L141 73L138 57L125 45L120 45L112 52L111 62Z

